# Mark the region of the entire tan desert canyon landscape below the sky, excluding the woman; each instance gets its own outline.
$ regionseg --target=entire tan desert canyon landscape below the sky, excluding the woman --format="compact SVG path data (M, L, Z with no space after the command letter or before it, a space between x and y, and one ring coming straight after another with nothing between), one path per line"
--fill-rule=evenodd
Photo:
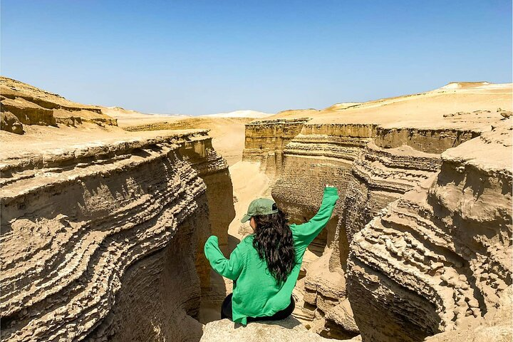
M2 341L511 340L511 84L125 125L0 81ZM228 256L259 196L306 222L325 184L296 321L219 321L207 237Z

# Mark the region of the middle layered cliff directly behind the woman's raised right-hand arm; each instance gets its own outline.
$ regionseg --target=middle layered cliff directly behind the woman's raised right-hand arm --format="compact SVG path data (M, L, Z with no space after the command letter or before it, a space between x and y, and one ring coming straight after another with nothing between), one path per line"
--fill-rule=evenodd
M395 130L387 133L398 134ZM416 143L417 134L414 130L409 134L412 145ZM420 139L424 138L425 135L420 135ZM440 137L432 139L440 140ZM396 145L388 148L376 145L387 140ZM336 321L335 313L341 312L335 308L346 298L343 279L353 234L388 203L426 180L439 167L439 155L399 145L395 138L372 126L312 127L307 124L304 131L286 145L283 172L276 180L272 195L293 222L304 222L315 214L324 184L335 185L340 190L331 222L310 247L318 256L329 254L328 270L321 275L306 272L304 283L305 301L316 308L321 317L329 314ZM309 309L308 306L305 309ZM326 321L327 325L336 326L333 320L326 318ZM335 330L329 329L330 336L351 336Z

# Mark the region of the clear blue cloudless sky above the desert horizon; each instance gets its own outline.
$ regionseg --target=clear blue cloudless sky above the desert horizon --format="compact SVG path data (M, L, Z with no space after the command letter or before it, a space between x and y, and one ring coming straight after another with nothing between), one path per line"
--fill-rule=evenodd
M1 74L146 113L512 82L512 2L2 0Z

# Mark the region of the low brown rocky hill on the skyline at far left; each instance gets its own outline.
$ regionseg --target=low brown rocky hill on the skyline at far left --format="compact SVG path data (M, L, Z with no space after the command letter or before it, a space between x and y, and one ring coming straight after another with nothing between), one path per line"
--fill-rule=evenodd
M3 76L0 76L0 102L0 129L16 134L24 133L24 125L118 125L114 118L102 113L101 107L75 103Z

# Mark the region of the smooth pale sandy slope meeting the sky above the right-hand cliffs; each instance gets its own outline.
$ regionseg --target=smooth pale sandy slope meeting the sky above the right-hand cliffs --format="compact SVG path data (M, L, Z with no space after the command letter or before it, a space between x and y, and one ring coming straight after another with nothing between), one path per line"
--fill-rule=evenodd
M333 105L323 110L286 110L273 118L311 117L309 123L375 123L385 127L476 128L512 110L512 83L449 83L426 93ZM479 113L475 110L480 110Z

